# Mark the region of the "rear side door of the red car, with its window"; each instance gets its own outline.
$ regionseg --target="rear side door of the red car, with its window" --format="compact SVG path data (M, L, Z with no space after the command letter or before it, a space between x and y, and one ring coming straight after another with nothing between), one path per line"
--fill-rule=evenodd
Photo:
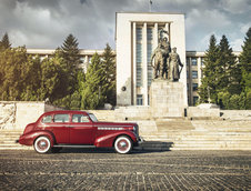
M51 124L52 132L56 137L56 141L59 144L70 143L70 114L69 113L57 113L53 117L53 123Z

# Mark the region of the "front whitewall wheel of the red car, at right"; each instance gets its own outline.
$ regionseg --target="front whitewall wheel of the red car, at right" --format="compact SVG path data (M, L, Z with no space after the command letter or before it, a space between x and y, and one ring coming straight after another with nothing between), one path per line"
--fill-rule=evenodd
M131 139L124 135L119 137L114 142L114 149L120 154L129 153L132 149Z

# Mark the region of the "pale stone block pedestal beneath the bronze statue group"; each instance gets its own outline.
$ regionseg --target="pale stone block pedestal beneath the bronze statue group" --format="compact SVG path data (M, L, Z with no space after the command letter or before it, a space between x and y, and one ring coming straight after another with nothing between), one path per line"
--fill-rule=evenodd
M150 88L150 107L153 118L184 117L183 84L153 80Z

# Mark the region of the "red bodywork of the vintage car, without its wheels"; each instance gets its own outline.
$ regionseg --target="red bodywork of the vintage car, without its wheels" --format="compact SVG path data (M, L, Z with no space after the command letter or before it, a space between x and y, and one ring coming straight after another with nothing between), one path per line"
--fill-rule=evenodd
M86 121L78 121L82 118ZM127 135L135 145L139 141L137 128L137 123L99 122L92 119L91 113L84 111L51 111L43 113L37 122L28 124L20 135L19 143L32 145L37 138L46 135L52 147L61 144L113 147L119 135Z

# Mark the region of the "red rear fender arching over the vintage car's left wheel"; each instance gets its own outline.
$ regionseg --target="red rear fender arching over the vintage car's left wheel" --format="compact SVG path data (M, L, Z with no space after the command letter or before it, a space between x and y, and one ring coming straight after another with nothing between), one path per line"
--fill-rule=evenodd
M41 135L46 135L51 141L51 147L54 144L54 135L50 131L31 131L29 133L22 134L19 138L19 143L24 145L32 145L34 140Z

